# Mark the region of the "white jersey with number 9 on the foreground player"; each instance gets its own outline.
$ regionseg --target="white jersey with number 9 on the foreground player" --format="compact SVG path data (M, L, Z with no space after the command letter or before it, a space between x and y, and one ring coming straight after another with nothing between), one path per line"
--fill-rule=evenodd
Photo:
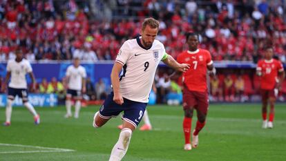
M122 97L149 102L155 71L163 57L166 58L165 48L158 40L148 49L142 46L140 37L125 41L115 60L124 65L120 76Z

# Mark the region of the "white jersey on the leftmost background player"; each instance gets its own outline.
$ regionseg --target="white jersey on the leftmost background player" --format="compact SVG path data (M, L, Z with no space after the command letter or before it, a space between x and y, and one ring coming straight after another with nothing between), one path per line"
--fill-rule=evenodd
M32 66L27 59L17 62L11 59L7 64L7 71L11 72L10 88L27 88L26 74L32 72Z

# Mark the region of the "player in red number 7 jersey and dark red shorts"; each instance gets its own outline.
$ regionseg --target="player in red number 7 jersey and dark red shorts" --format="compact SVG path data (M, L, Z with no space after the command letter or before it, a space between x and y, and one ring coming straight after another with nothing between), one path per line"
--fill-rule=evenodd
M191 150L192 146L193 148L198 146L198 133L204 127L209 108L207 70L209 70L210 75L214 75L216 69L213 67L213 61L211 60L209 51L198 48L199 40L196 33L188 32L186 41L189 50L180 53L177 61L190 64L191 67L186 73L175 72L171 77L183 76L184 150ZM196 123L196 129L193 130L192 142L190 142L193 109L197 111L198 121Z

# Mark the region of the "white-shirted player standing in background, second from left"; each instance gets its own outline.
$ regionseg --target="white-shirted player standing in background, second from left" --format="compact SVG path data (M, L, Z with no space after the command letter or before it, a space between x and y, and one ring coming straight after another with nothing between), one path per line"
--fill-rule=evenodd
M79 111L82 106L82 93L86 92L86 69L80 65L79 58L75 57L73 65L68 66L66 70L66 79L68 81L68 91L66 92L66 115L71 117L72 111L71 99L75 99L75 118L79 117Z

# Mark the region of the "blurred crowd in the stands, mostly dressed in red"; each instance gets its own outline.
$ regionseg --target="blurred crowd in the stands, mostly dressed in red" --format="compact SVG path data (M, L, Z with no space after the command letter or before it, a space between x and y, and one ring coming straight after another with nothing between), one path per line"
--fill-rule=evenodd
M186 49L184 33L194 31L214 60L256 62L271 44L285 63L284 12L283 0L2 0L0 61L15 58L17 47L30 61L115 59L120 45L140 33L144 17L154 17L157 39L173 57Z

